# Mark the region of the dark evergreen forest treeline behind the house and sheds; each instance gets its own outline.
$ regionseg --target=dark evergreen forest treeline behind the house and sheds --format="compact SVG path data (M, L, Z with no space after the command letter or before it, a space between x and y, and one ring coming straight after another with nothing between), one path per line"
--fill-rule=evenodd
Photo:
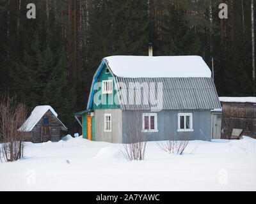
M28 19L28 3L36 19ZM228 19L218 17L228 4ZM109 55L201 55L220 96L253 96L251 0L0 0L0 93L51 105L75 131ZM254 12L254 11L253 11ZM19 89L18 89L19 88Z

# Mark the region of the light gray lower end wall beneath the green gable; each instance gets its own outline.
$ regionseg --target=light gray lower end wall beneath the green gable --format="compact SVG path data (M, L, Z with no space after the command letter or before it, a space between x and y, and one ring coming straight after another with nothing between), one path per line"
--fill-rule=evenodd
M111 132L104 132L104 113L111 113ZM95 110L95 141L122 143L122 110L96 109Z

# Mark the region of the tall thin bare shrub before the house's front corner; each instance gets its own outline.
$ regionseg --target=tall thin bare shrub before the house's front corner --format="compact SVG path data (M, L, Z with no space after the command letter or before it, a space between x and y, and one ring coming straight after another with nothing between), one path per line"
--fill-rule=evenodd
M124 155L128 161L143 160L147 146L147 132L142 131L142 115L132 112L131 120L127 124Z

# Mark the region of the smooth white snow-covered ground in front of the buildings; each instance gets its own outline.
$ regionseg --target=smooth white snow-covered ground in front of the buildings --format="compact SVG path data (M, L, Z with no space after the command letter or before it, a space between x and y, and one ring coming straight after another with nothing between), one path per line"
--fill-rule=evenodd
M252 138L192 141L182 156L148 142L144 161L123 149L81 137L26 143L24 159L0 163L0 191L256 191Z

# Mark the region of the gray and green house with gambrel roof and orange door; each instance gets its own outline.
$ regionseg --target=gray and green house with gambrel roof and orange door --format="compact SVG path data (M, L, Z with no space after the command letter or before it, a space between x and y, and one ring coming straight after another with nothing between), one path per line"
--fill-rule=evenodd
M199 56L102 59L86 110L75 113L83 137L113 143L189 138L211 141L211 110L221 108L211 71Z

